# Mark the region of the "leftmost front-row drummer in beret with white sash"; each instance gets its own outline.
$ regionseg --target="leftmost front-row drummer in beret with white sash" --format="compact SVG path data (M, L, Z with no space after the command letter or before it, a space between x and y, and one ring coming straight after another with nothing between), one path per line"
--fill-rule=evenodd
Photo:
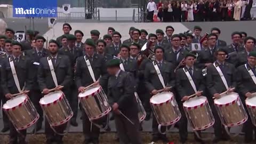
M12 55L10 58L5 58L2 61L1 67L1 87L3 90L3 94L5 95L6 99L11 99L12 94L20 93L29 91L31 89L31 84L33 82L33 70L30 69L31 67L31 60L21 54L21 47L22 45L19 42L12 42ZM13 61L14 69L17 73L18 82L16 84L14 81L14 76L12 74L12 68L9 61ZM26 84L25 84L26 83ZM20 86L20 87L18 87ZM26 142L26 134L27 130L17 130L14 128L11 121L9 121L10 126L10 139L9 143L19 143L25 144Z

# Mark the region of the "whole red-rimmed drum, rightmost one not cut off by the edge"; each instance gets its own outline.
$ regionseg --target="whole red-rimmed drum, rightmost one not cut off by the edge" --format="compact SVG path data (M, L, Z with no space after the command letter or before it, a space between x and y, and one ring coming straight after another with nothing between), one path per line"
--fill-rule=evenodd
M225 126L241 125L248 119L238 93L223 94L221 98L214 99L214 105L218 111L221 123Z

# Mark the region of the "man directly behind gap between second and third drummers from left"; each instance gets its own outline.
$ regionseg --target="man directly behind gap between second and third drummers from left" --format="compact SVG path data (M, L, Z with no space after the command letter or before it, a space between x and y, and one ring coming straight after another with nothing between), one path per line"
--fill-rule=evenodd
M83 50L80 47L76 47L76 36L75 35L67 35L67 40L68 40L68 45L67 47L63 47L62 49L59 50L59 54L62 55L67 55L70 61L70 66L72 68L72 74L73 74L73 79L74 79L74 73L75 73L75 65L76 65L76 60L78 57L83 56ZM70 124L73 126L78 126L76 122L76 117L77 117L77 107L78 107L78 98L77 98L77 90L76 90L76 84L73 81L73 83L70 85L70 93L66 95L66 98L72 108L72 111L74 112L73 117L70 120Z

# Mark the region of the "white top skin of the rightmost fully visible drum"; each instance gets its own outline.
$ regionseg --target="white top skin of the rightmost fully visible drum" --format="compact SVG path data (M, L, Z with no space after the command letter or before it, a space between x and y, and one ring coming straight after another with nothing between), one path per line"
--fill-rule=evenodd
M227 93L225 95L222 95L220 99L214 99L214 103L217 105L226 105L227 103L236 100L237 97L239 97L239 95L235 92Z

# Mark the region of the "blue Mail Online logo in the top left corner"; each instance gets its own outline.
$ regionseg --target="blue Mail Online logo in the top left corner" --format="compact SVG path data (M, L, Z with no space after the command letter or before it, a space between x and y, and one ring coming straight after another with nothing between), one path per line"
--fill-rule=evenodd
M13 17L58 17L57 0L13 0Z

